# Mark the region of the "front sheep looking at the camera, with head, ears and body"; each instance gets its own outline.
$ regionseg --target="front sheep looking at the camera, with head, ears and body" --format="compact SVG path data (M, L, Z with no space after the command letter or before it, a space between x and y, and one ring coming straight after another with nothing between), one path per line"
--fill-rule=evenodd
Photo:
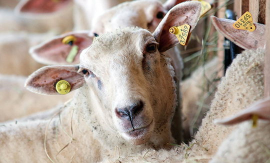
M31 74L25 86L36 93L58 94L55 83L61 79L78 90L51 119L1 125L1 162L96 162L113 157L115 149L128 155L173 142L174 72L162 53L178 40L162 29L192 21L199 8L199 2L176 5L153 34L139 27L117 29L84 49L79 64L45 66ZM180 19L184 10L189 16Z

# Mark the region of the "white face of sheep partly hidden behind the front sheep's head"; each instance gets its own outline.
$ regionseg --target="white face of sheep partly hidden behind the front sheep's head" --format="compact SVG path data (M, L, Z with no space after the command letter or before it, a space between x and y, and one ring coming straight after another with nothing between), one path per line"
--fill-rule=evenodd
M127 26L139 26L153 32L167 10L158 0L135 0L119 4L95 17L94 33L101 34Z

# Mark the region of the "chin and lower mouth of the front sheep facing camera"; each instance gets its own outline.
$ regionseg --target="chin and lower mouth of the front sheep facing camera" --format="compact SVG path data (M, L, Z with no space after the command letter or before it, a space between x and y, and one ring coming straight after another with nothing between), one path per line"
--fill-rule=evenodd
M141 129L137 129L131 132L121 132L121 136L133 145L140 145L149 141L154 128L154 121Z

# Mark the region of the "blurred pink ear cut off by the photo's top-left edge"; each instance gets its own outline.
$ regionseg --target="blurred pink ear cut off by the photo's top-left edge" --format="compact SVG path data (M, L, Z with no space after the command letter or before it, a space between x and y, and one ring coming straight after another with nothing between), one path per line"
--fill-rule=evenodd
M56 0L55 0L56 1ZM50 13L65 7L71 0L28 0L20 9L20 12Z

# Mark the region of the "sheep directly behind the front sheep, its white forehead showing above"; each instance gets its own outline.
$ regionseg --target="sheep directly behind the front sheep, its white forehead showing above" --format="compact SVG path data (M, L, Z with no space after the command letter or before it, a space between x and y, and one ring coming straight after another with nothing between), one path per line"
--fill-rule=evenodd
M161 21L163 15L166 12L166 9L169 9L171 6L174 6L175 3L178 1L175 0L168 0L165 4L161 4L157 0L138 0L138 1L132 1L132 2L125 2L123 4L119 4L115 7L112 7L111 9L104 12L102 15L97 16L97 20L100 22L95 22L95 26L92 27L92 30L89 32L87 31L72 31L69 33L65 33L63 35L54 37L46 42L43 42L39 45L36 45L34 47L31 47L29 49L29 53L32 55L32 57L40 62L45 64L73 64L78 63L78 58L80 51L85 48L86 46L90 45L92 43L93 38L96 34L103 33L105 31L111 31L113 29L119 28L119 27L126 27L126 26L140 26L140 27L146 27L150 29L150 31L154 30L157 26L157 24ZM179 5L179 4L178 4ZM189 5L189 3L181 3L182 6ZM144 12L141 12L143 10ZM150 12L150 13L148 13ZM198 8L198 12L200 12L200 8ZM159 14L162 14L161 16ZM179 14L180 17L186 17L187 12L183 12ZM122 17L122 15L125 15L125 17ZM101 19L100 17L105 17L104 19ZM139 18L138 18L139 17ZM190 32L194 29L196 22L198 20L197 17L192 17L192 22L188 22L190 27ZM176 24L179 25L179 24ZM99 29L99 30L98 30ZM168 30L168 29L167 29ZM72 43L72 46L69 44L63 44L62 40L66 36L75 36L76 41ZM165 40L164 40L165 41ZM163 42L163 41L162 41ZM69 51L74 47L73 45L78 46L78 52L73 60L72 63L68 63L66 61L66 57L69 54ZM61 55L59 55L61 53ZM180 88L179 88L179 82L181 80L182 76L182 60L179 55L179 51L176 48L169 49L169 51L166 53L167 56L172 58L172 65L174 67L175 71L175 80L177 85L177 94L178 96L178 102L176 108L175 117L173 118L173 135L175 138L177 138L177 141L181 141L181 115L180 115L180 102L181 102L181 95L180 95Z

